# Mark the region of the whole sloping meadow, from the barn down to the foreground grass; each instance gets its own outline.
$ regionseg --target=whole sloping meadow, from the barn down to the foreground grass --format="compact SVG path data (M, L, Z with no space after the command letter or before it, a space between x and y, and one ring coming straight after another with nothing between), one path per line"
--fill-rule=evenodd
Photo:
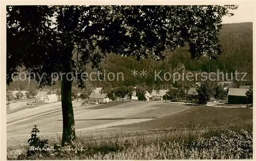
M55 148L61 141L40 139ZM252 109L193 106L152 121L78 133L76 147L87 150L77 153L28 157L27 147L7 147L8 159L251 159Z

